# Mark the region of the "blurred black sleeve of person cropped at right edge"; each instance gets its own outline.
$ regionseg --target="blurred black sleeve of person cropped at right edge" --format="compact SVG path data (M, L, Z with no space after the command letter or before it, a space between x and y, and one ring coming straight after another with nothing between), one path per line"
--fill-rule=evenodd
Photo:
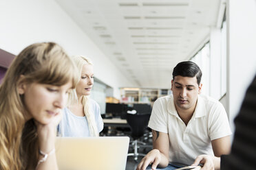
M256 76L235 118L231 154L221 157L221 170L256 169Z

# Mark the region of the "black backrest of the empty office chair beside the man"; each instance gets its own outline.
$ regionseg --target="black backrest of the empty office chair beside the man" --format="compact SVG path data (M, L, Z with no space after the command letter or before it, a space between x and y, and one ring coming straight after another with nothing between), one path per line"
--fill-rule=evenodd
M131 127L131 137L134 139L143 136L149 123L150 114L127 114L127 123Z

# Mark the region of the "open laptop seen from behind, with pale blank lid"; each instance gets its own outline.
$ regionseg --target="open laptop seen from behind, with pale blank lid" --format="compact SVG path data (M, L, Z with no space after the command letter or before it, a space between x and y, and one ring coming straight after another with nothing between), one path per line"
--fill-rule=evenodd
M56 138L60 170L125 170L129 137Z

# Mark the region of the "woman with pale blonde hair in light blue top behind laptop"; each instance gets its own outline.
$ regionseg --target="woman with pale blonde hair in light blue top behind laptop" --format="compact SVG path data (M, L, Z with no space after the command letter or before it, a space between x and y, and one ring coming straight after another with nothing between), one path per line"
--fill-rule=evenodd
M80 81L72 90L69 104L63 110L63 119L58 125L59 136L99 136L103 130L100 107L89 95L94 84L94 69L91 60L83 56L72 58L78 68Z

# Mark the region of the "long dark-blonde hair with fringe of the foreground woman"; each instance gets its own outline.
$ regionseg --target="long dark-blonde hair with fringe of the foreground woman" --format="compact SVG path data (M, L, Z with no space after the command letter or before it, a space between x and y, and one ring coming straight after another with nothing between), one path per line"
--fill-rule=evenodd
M26 83L61 86L78 79L76 66L54 42L42 42L23 49L14 58L0 86L0 169L35 169L39 158L39 141L34 120L19 95L21 75Z

